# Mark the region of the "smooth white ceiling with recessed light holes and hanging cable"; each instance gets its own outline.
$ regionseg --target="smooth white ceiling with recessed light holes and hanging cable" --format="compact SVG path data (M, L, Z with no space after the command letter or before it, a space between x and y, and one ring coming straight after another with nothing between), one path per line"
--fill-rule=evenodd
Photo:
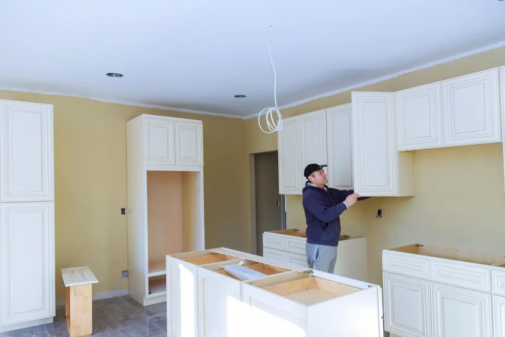
M505 1L0 0L0 87L257 115L270 25L285 106L501 45Z

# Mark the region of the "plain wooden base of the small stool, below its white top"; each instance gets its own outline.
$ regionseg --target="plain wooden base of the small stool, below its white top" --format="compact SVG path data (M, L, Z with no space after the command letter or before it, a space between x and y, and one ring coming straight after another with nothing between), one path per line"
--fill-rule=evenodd
M65 316L70 337L88 336L93 332L91 285L66 287Z

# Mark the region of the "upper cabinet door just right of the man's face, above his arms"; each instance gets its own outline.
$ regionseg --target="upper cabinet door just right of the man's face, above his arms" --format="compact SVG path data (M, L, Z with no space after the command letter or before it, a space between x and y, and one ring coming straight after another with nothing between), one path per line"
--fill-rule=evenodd
M351 104L326 109L328 185L352 189Z

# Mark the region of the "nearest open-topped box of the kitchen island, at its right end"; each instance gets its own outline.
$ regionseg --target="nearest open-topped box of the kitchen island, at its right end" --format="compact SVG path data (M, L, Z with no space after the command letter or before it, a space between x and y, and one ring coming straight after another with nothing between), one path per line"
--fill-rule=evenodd
M242 302L251 337L383 336L381 288L330 273L246 281Z

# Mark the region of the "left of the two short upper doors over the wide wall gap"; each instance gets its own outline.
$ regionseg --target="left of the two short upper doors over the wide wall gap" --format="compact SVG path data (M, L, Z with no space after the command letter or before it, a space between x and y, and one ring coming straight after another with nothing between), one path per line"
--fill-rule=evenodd
M442 146L440 82L395 92L398 151Z

